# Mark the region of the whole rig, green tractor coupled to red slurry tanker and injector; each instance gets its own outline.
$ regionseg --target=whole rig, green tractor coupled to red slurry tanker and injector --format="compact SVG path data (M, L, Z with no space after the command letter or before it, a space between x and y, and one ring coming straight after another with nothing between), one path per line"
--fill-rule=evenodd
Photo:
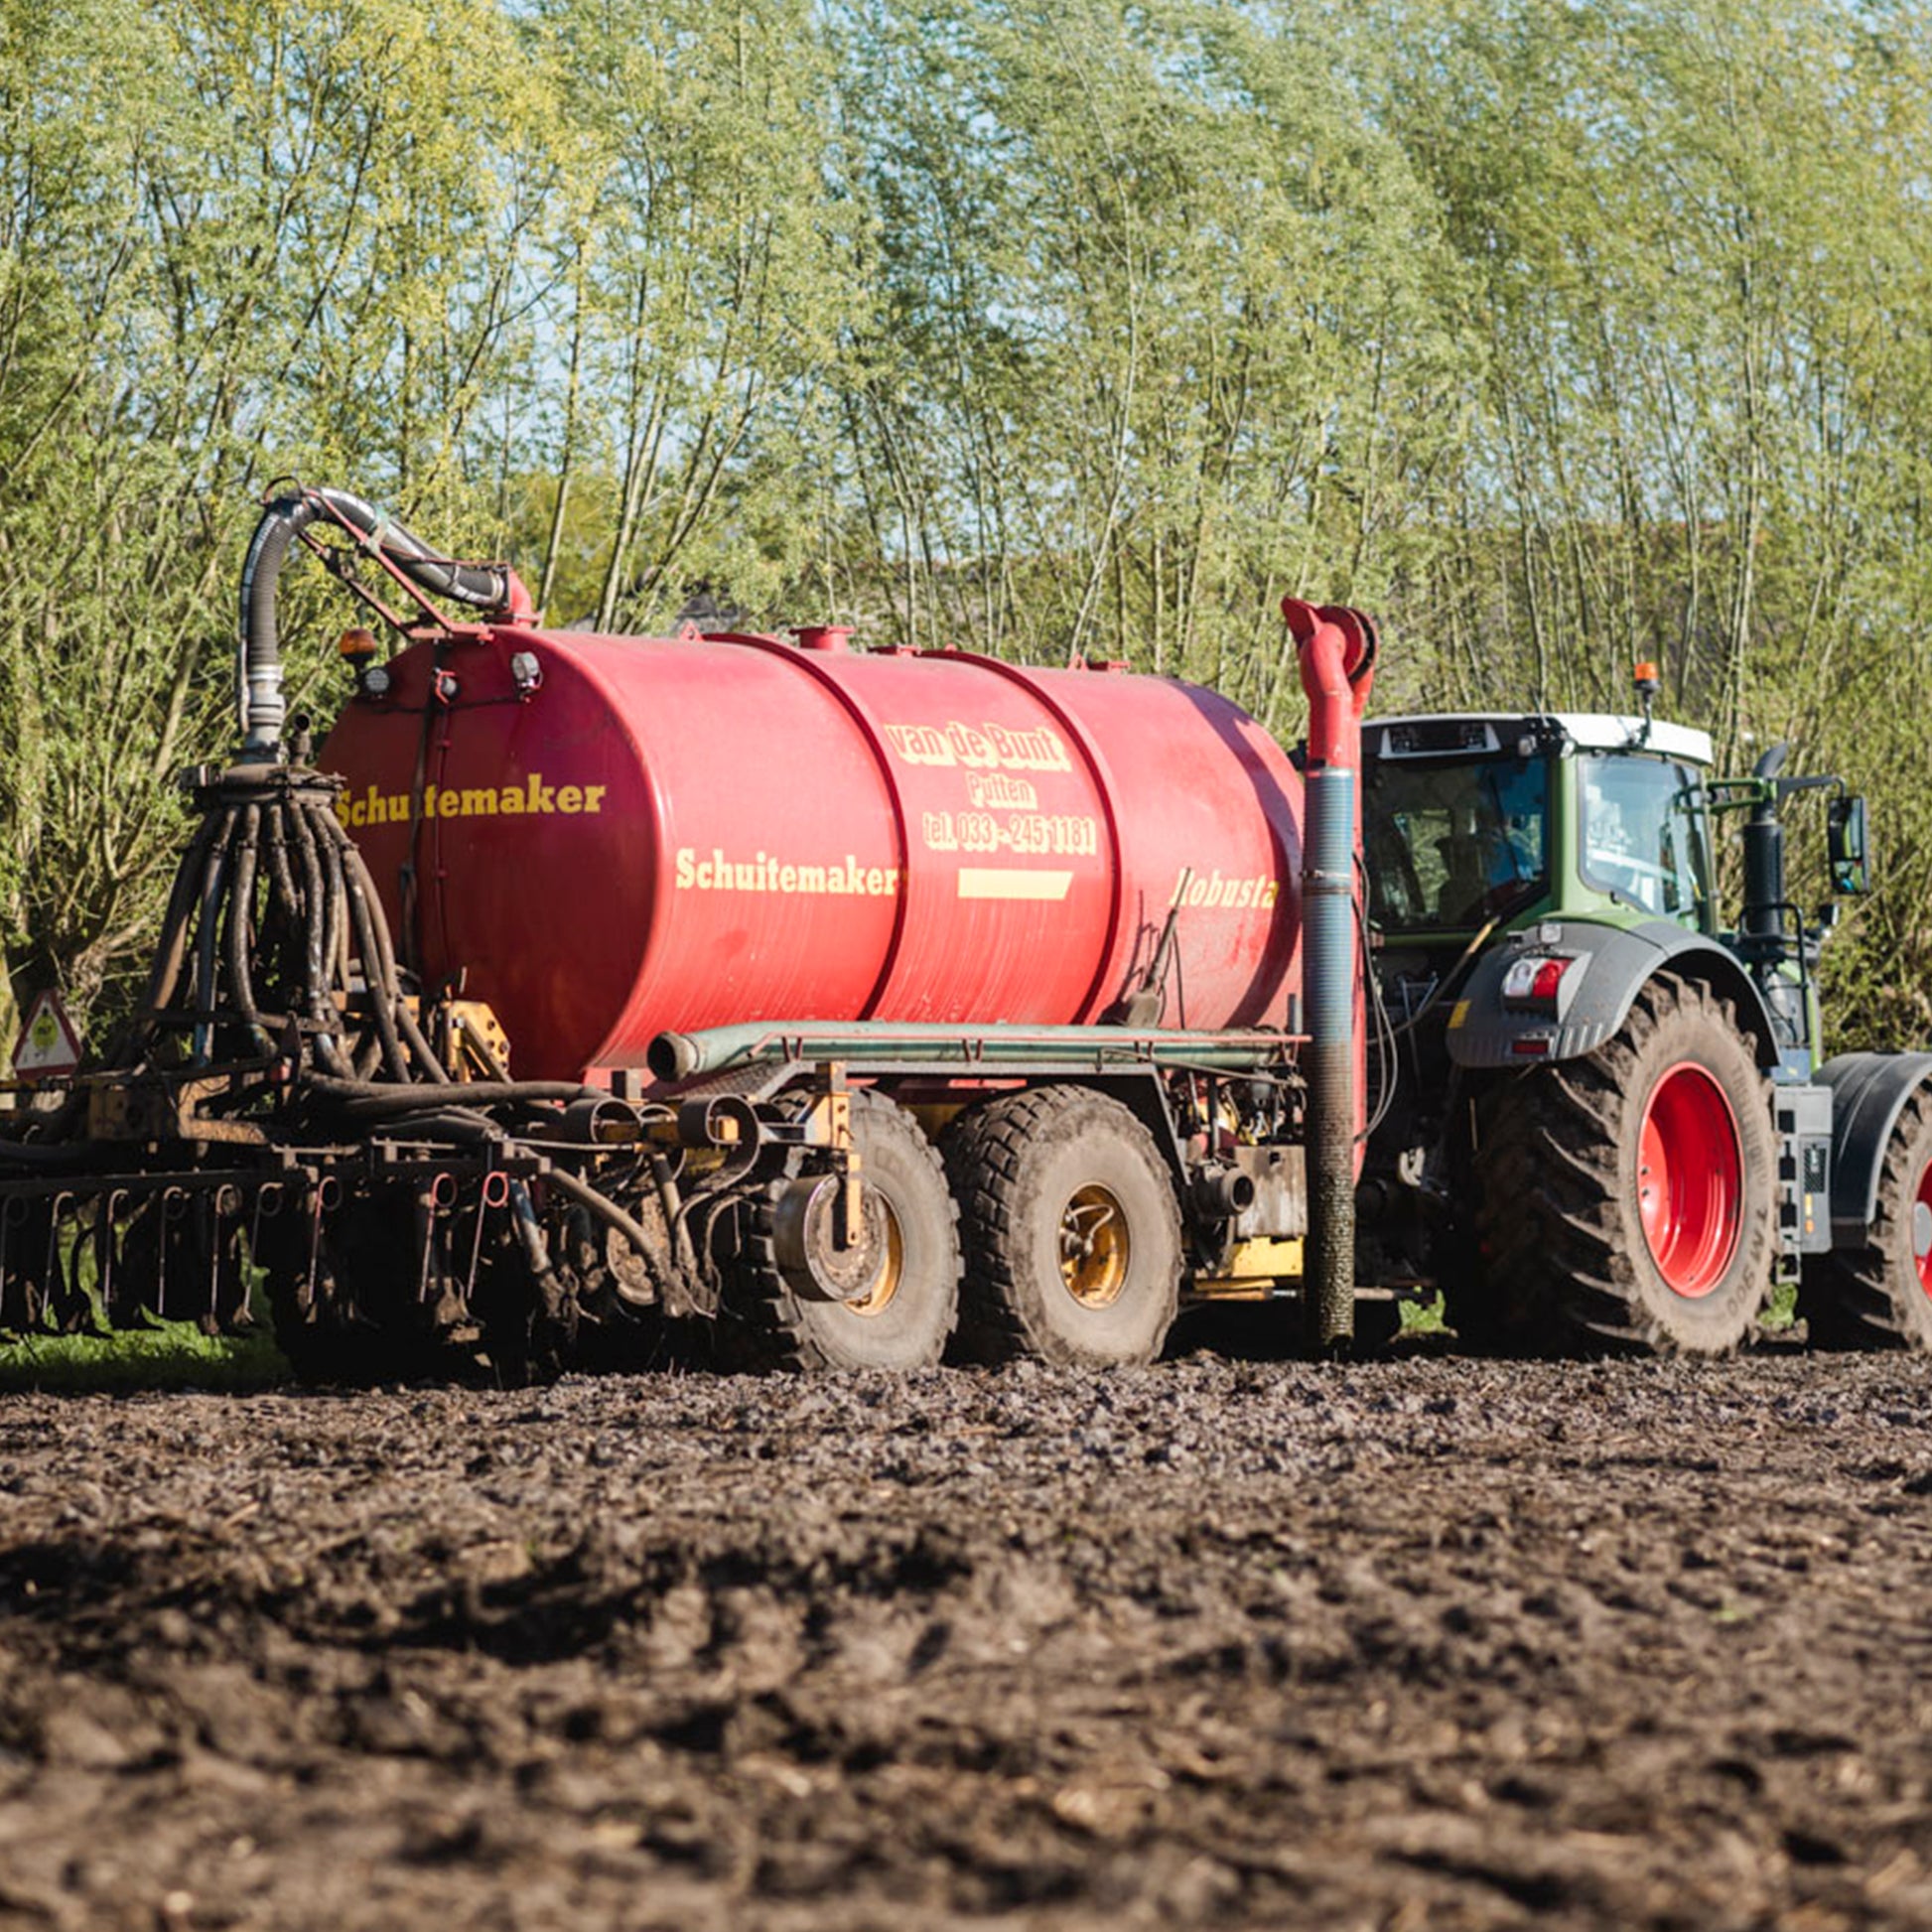
M319 748L298 553L367 612ZM1812 1074L1770 850L1808 781L1723 790L1648 707L1395 721L1364 821L1376 628L1285 618L1293 757L1115 663L547 630L514 570L284 489L139 1010L12 1095L0 1327L267 1302L311 1379L703 1337L1111 1364L1188 1304L1279 1302L1321 1349L1439 1285L1492 1343L1716 1350L1783 1258L1830 1264L1820 1335L1922 1337L1932 1061ZM1615 873L1588 800L1627 773ZM1723 933L1731 806L1756 896Z

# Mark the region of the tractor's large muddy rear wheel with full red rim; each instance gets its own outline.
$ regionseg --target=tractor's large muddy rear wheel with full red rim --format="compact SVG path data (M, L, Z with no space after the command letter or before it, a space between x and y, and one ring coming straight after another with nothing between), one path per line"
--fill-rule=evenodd
M1501 1082L1484 1111L1480 1343L1727 1354L1752 1335L1777 1144L1727 1001L1658 974L1602 1047Z

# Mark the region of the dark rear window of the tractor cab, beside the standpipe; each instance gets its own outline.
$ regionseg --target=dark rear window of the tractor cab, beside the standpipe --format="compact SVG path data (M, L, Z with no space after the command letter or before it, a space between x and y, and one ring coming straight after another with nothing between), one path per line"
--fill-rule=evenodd
M1538 757L1376 759L1362 813L1370 918L1466 931L1542 898L1549 773Z

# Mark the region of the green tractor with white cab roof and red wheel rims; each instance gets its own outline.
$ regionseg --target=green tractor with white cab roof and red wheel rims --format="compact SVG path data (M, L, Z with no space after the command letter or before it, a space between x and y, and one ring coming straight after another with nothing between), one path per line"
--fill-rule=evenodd
M1932 1347L1932 1055L1822 1057L1835 902L1785 891L1785 802L1830 794L1837 895L1866 887L1864 802L1783 746L1714 779L1644 672L1633 717L1362 728L1360 1279L1439 1285L1493 1349L1719 1354L1779 1281L1814 1343Z

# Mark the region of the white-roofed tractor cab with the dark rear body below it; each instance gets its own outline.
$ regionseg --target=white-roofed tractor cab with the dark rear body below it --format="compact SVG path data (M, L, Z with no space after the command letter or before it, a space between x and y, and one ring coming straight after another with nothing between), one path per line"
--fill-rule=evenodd
M1466 1192L1445 1167L1470 1037L1563 1057L1590 1010L1586 954L1619 933L1716 931L1704 781L1710 734L1605 713L1451 713L1362 726L1374 1134L1372 1202L1399 1211L1364 1252L1381 1279L1424 1271L1420 1196ZM1656 945L1644 945L1646 956ZM1515 978L1476 997L1507 954ZM1656 954L1662 956L1662 954ZM1613 1016L1609 1016L1613 1020ZM1488 1024L1493 1022L1493 1024ZM1594 1043L1594 1039L1592 1039ZM1513 1065L1522 1065L1517 1059Z

